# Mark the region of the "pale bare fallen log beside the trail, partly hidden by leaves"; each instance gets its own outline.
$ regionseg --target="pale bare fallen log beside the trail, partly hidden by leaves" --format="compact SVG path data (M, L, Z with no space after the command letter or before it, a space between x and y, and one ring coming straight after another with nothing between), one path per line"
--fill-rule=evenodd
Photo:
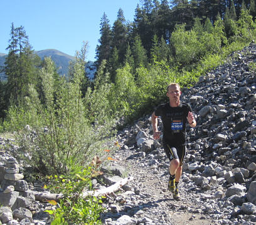
M82 197L85 198L87 196L105 196L111 193L114 193L116 191L119 191L120 187L124 186L127 184L129 181L132 181L132 177L129 178L124 178L118 181L117 183L105 187L103 189L95 190L95 191L85 191L82 194ZM34 192L35 194L35 199L36 201L41 201L41 202L46 202L48 200L55 200L59 201L60 199L63 199L64 195L63 194L54 194L54 193L47 193L47 192Z

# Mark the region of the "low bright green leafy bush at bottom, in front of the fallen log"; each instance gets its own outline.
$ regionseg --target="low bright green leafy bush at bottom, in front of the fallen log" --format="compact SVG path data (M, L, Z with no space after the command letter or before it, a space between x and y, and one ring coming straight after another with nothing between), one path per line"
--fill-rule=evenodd
M51 215L51 225L96 225L102 224L100 213L104 211L102 207L102 197L83 197L83 192L92 189L91 179L97 171L95 167L88 166L85 169L74 166L66 176L50 176L49 187L55 193L63 194L60 203L48 201L56 205L56 209L46 210Z

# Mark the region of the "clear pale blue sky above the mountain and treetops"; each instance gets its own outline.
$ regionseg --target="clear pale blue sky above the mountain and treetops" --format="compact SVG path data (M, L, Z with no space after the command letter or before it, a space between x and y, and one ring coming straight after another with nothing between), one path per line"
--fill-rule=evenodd
M87 60L95 60L100 19L104 12L110 26L119 8L127 21L134 20L139 0L0 0L0 53L8 54L11 22L24 26L34 50L57 49L75 56L88 41Z

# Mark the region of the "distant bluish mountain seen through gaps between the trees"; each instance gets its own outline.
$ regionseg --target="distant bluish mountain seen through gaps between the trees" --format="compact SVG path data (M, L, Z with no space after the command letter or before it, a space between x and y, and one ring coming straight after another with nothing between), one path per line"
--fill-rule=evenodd
M68 75L68 65L70 61L75 60L74 56L70 56L68 54L62 53L61 51L58 51L56 49L45 49L41 51L35 51L35 53L41 58L45 57L51 57L53 62L56 65L56 68L58 68L58 73L61 76L67 76ZM4 61L7 54L0 53L0 68L1 66L4 66ZM94 73L96 71L96 67L94 66L94 63L92 61L88 61L86 66L86 72L89 79L93 79ZM0 73L0 79L4 79L4 73Z

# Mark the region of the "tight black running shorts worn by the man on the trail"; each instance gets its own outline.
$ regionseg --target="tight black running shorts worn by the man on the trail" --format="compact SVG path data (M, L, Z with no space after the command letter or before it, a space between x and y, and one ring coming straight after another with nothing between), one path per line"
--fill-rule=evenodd
M172 159L179 159L179 166L182 166L186 158L186 145L173 146L171 143L163 139L164 151L166 156L171 161Z

